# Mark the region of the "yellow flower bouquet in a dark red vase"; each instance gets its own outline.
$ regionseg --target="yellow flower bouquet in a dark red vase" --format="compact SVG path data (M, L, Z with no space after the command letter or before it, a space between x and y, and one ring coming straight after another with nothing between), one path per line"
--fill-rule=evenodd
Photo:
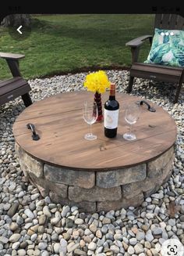
M102 106L101 106L101 93L104 93L106 88L109 88L111 82L108 80L107 74L103 70L87 74L83 83L87 87L87 91L95 92L94 101L97 103L98 117L97 121L103 120Z

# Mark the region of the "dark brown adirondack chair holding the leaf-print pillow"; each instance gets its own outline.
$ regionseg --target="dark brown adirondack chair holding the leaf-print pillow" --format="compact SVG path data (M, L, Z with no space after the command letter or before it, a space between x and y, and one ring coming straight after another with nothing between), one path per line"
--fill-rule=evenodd
M183 30L184 18L175 14L156 14L154 20L154 28L155 27L160 29ZM146 39L150 41L151 45L152 38L152 35L143 35L140 38L133 39L126 43L127 46L131 47L133 59L132 67L130 68L127 92L132 91L134 77L171 82L177 84L174 99L174 103L177 103L179 99L179 92L182 88L182 82L184 81L184 67L168 67L152 63L148 64L138 62L140 45L142 45L143 41Z

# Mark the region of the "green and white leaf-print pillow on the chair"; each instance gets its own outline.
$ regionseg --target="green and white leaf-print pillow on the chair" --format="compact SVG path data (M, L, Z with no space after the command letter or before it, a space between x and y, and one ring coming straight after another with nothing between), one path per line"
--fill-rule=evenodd
M184 31L155 28L150 53L144 63L184 67Z

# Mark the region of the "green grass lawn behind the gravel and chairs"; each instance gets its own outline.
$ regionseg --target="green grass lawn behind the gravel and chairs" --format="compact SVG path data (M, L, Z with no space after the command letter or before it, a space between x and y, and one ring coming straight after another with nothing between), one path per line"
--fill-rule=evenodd
M152 34L153 15L73 14L33 16L30 37L12 39L0 29L0 52L23 53L20 70L24 78L41 78L79 70L131 65L126 42L143 34ZM147 58L149 44L140 51ZM0 79L11 74L5 59L0 59Z

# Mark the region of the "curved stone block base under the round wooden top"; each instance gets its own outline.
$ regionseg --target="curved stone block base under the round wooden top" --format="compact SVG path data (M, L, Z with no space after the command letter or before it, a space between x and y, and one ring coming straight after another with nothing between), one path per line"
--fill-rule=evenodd
M174 146L146 164L113 171L79 171L59 168L31 157L16 143L23 174L41 196L80 211L110 211L139 206L172 174ZM91 169L92 170L92 169ZM159 198L157 199L159 200Z

